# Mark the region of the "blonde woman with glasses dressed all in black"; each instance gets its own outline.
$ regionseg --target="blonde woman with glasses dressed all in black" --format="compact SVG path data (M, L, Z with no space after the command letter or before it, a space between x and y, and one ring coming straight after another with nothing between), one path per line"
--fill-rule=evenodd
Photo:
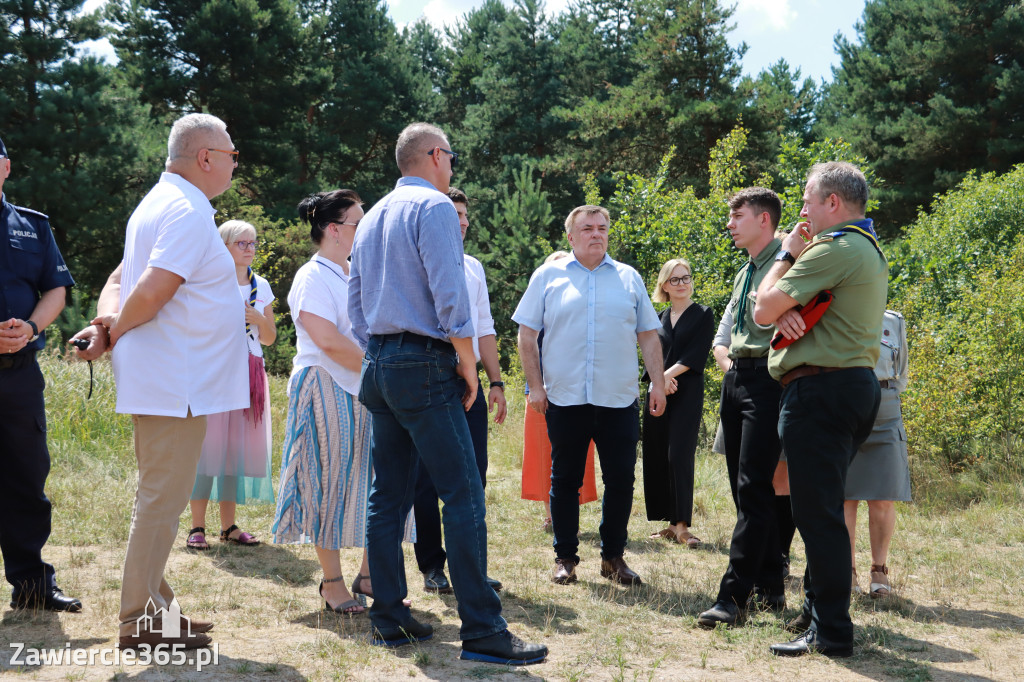
M674 258L657 275L651 300L669 302L660 315L668 407L660 417L644 410L643 482L647 518L668 521L652 538L668 538L688 548L700 545L690 535L693 512L693 456L703 413L703 369L715 336L711 308L693 299L690 264Z

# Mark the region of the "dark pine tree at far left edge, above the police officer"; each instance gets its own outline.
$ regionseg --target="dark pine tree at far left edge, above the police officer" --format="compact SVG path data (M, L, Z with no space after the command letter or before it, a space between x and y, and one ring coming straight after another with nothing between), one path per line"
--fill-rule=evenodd
M79 288L120 261L131 207L164 153L134 93L81 56L101 35L82 2L0 2L0 130L11 157L8 201L50 216Z

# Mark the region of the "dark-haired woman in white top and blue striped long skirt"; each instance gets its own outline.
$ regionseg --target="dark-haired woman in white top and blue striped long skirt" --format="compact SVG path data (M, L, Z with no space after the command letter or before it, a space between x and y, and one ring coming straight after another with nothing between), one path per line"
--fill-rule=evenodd
M358 401L362 351L348 318L348 257L362 218L351 189L310 195L298 207L317 251L299 268L288 293L296 355L288 382L288 423L273 541L312 543L324 570L324 608L361 613L355 595L373 596L366 549L351 591L341 548L367 546L367 503L373 468L370 412ZM412 513L407 523L412 542Z

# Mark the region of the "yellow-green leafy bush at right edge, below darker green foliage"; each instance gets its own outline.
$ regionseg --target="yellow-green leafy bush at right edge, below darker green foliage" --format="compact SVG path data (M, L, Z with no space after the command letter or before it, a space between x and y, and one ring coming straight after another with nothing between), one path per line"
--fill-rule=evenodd
M934 295L946 285L930 275L902 301L911 348L904 400L910 447L950 471L982 459L1020 467L1024 298L1015 292L1024 288L1024 237L1009 256L992 254L987 264L964 269L970 276L947 291L955 305Z

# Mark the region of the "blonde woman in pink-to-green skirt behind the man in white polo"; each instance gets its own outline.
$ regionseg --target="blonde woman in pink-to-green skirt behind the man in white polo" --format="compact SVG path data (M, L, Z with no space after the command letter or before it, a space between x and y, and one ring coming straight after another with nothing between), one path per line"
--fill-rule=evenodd
M203 454L196 471L188 506L193 529L185 546L208 550L206 508L220 503L220 542L251 547L256 537L239 528L238 505L272 503L270 480L270 392L263 368L263 346L278 338L273 322L273 292L266 280L253 272L256 228L242 220L228 220L219 228L227 252L234 261L240 304L245 306L249 346L249 407L207 417Z

